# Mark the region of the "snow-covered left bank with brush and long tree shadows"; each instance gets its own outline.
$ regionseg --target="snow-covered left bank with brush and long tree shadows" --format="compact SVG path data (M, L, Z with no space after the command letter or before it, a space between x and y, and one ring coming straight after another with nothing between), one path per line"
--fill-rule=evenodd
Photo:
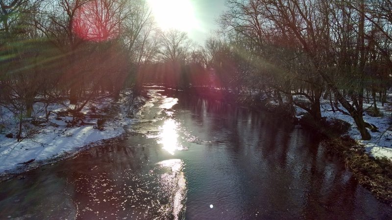
M137 97L132 105L143 105L146 99ZM148 101L150 102L150 101ZM63 104L50 104L47 110L43 103L37 103L34 106L34 117L44 118L49 111L53 112L49 116L46 123L39 126L32 126L29 121L24 122L28 125L28 131L34 134L18 142L16 138L7 138L6 134L17 131L17 120L13 119L12 112L1 109L3 131L0 134L0 174L13 173L23 166L27 161L34 160L34 163L61 157L68 152L74 152L81 149L83 146L97 142L103 139L117 137L123 134L128 127L140 120L141 111L148 107L148 102L145 103L137 112L134 112L134 118L128 118L129 105L126 102L112 103L110 98L103 98L97 102L91 102L83 108L82 112L85 114L106 114L104 111L115 110L114 116L109 117L103 124L103 130L97 129L97 118L85 118L83 120L85 125L82 126L67 126L68 122L72 120L70 116L59 117L54 112L61 112L66 110ZM24 125L25 126L25 125ZM27 135L27 133L25 133ZM15 137L15 135L14 135Z

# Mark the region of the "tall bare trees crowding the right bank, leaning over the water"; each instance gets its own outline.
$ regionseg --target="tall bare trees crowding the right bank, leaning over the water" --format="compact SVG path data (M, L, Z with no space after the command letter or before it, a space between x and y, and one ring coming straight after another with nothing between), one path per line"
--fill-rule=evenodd
M372 125L363 119L366 94L378 112L376 101L386 102L391 85L390 0L227 3L221 24L250 61L242 74L245 81L278 100L285 96L290 106L306 110L316 121L321 119L320 99L329 97L332 110L350 115L362 138L370 139L366 128Z

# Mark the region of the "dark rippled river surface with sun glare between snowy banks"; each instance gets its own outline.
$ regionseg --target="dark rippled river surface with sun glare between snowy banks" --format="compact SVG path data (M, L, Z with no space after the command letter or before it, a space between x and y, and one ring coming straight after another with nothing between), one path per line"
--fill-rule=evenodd
M150 89L126 140L0 184L0 219L391 219L311 132Z

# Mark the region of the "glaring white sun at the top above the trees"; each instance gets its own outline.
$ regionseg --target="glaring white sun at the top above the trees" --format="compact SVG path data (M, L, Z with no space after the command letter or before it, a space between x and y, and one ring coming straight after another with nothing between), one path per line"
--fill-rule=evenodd
M199 25L190 0L147 0L155 21L162 30L190 32Z

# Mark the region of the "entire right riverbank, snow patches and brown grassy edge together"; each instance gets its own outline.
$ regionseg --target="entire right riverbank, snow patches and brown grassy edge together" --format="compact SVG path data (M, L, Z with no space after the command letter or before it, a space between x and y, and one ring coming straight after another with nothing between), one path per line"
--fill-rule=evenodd
M370 104L364 104L367 109L364 120L377 127L369 131L371 140L361 140L361 135L353 119L340 111L333 111L328 100L321 101L321 114L324 121L315 124L304 110L296 108L295 118L281 108L276 102L261 102L257 97L242 97L229 92L208 88L198 88L192 91L204 97L229 102L257 111L269 111L291 120L303 128L324 136L322 144L332 153L338 154L358 182L371 191L378 199L392 205L392 131L391 105L377 103L381 115L371 115ZM340 107L342 109L342 107Z

